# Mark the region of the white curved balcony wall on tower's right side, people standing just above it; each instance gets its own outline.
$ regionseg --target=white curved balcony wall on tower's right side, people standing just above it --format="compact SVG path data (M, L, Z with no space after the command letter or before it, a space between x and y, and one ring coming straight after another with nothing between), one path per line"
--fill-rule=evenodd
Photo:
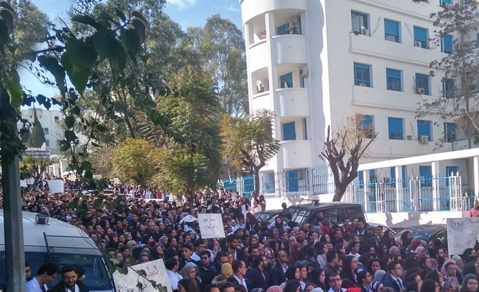
M276 64L306 64L306 37L297 34L273 36L272 50Z

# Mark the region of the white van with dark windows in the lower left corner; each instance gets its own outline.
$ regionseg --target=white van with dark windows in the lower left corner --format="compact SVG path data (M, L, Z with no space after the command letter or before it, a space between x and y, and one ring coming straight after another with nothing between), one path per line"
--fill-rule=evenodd
M43 263L52 261L60 269L64 265L79 265L85 269L85 284L90 291L113 292L114 282L108 273L107 260L94 241L79 228L49 217L48 224L36 224L37 213L23 212L25 261L31 266L31 276ZM5 289L5 241L3 210L0 210L0 291ZM61 276L50 283L53 287Z

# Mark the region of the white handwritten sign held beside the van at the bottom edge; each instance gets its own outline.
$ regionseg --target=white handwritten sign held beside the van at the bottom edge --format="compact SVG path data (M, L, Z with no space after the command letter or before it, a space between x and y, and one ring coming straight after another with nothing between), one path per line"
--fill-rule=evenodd
M135 271L143 270L146 272L146 279L143 276L140 276L133 271L133 269L128 268L128 274L122 275L118 271L113 273L113 279L115 281L116 291L118 292L158 292L156 288L153 287L150 280L155 281L157 284L166 286L168 292L172 292L170 279L168 279L168 274L166 274L166 267L163 263L163 260L151 261L148 263L142 263L139 265L132 265L131 268ZM147 280L148 279L148 280ZM142 288L140 289L138 281L142 283Z

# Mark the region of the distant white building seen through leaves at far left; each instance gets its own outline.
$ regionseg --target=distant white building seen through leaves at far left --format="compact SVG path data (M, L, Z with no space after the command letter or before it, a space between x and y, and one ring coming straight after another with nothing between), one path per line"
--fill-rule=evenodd
M34 111L40 124L42 124L43 131L45 133L45 146L46 149L55 154L58 152L58 143L64 138L64 131L58 124L59 121L63 120L63 114L60 109L41 109L41 108L29 108L21 109L22 117L27 119L29 122L34 122ZM21 122L18 122L18 129L23 127Z

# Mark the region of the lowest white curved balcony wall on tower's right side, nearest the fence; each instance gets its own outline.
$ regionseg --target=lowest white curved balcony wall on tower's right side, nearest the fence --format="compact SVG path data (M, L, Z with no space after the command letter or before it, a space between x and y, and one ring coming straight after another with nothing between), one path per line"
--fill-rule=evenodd
M312 168L311 145L310 140L281 141L278 157L283 159L283 168Z

